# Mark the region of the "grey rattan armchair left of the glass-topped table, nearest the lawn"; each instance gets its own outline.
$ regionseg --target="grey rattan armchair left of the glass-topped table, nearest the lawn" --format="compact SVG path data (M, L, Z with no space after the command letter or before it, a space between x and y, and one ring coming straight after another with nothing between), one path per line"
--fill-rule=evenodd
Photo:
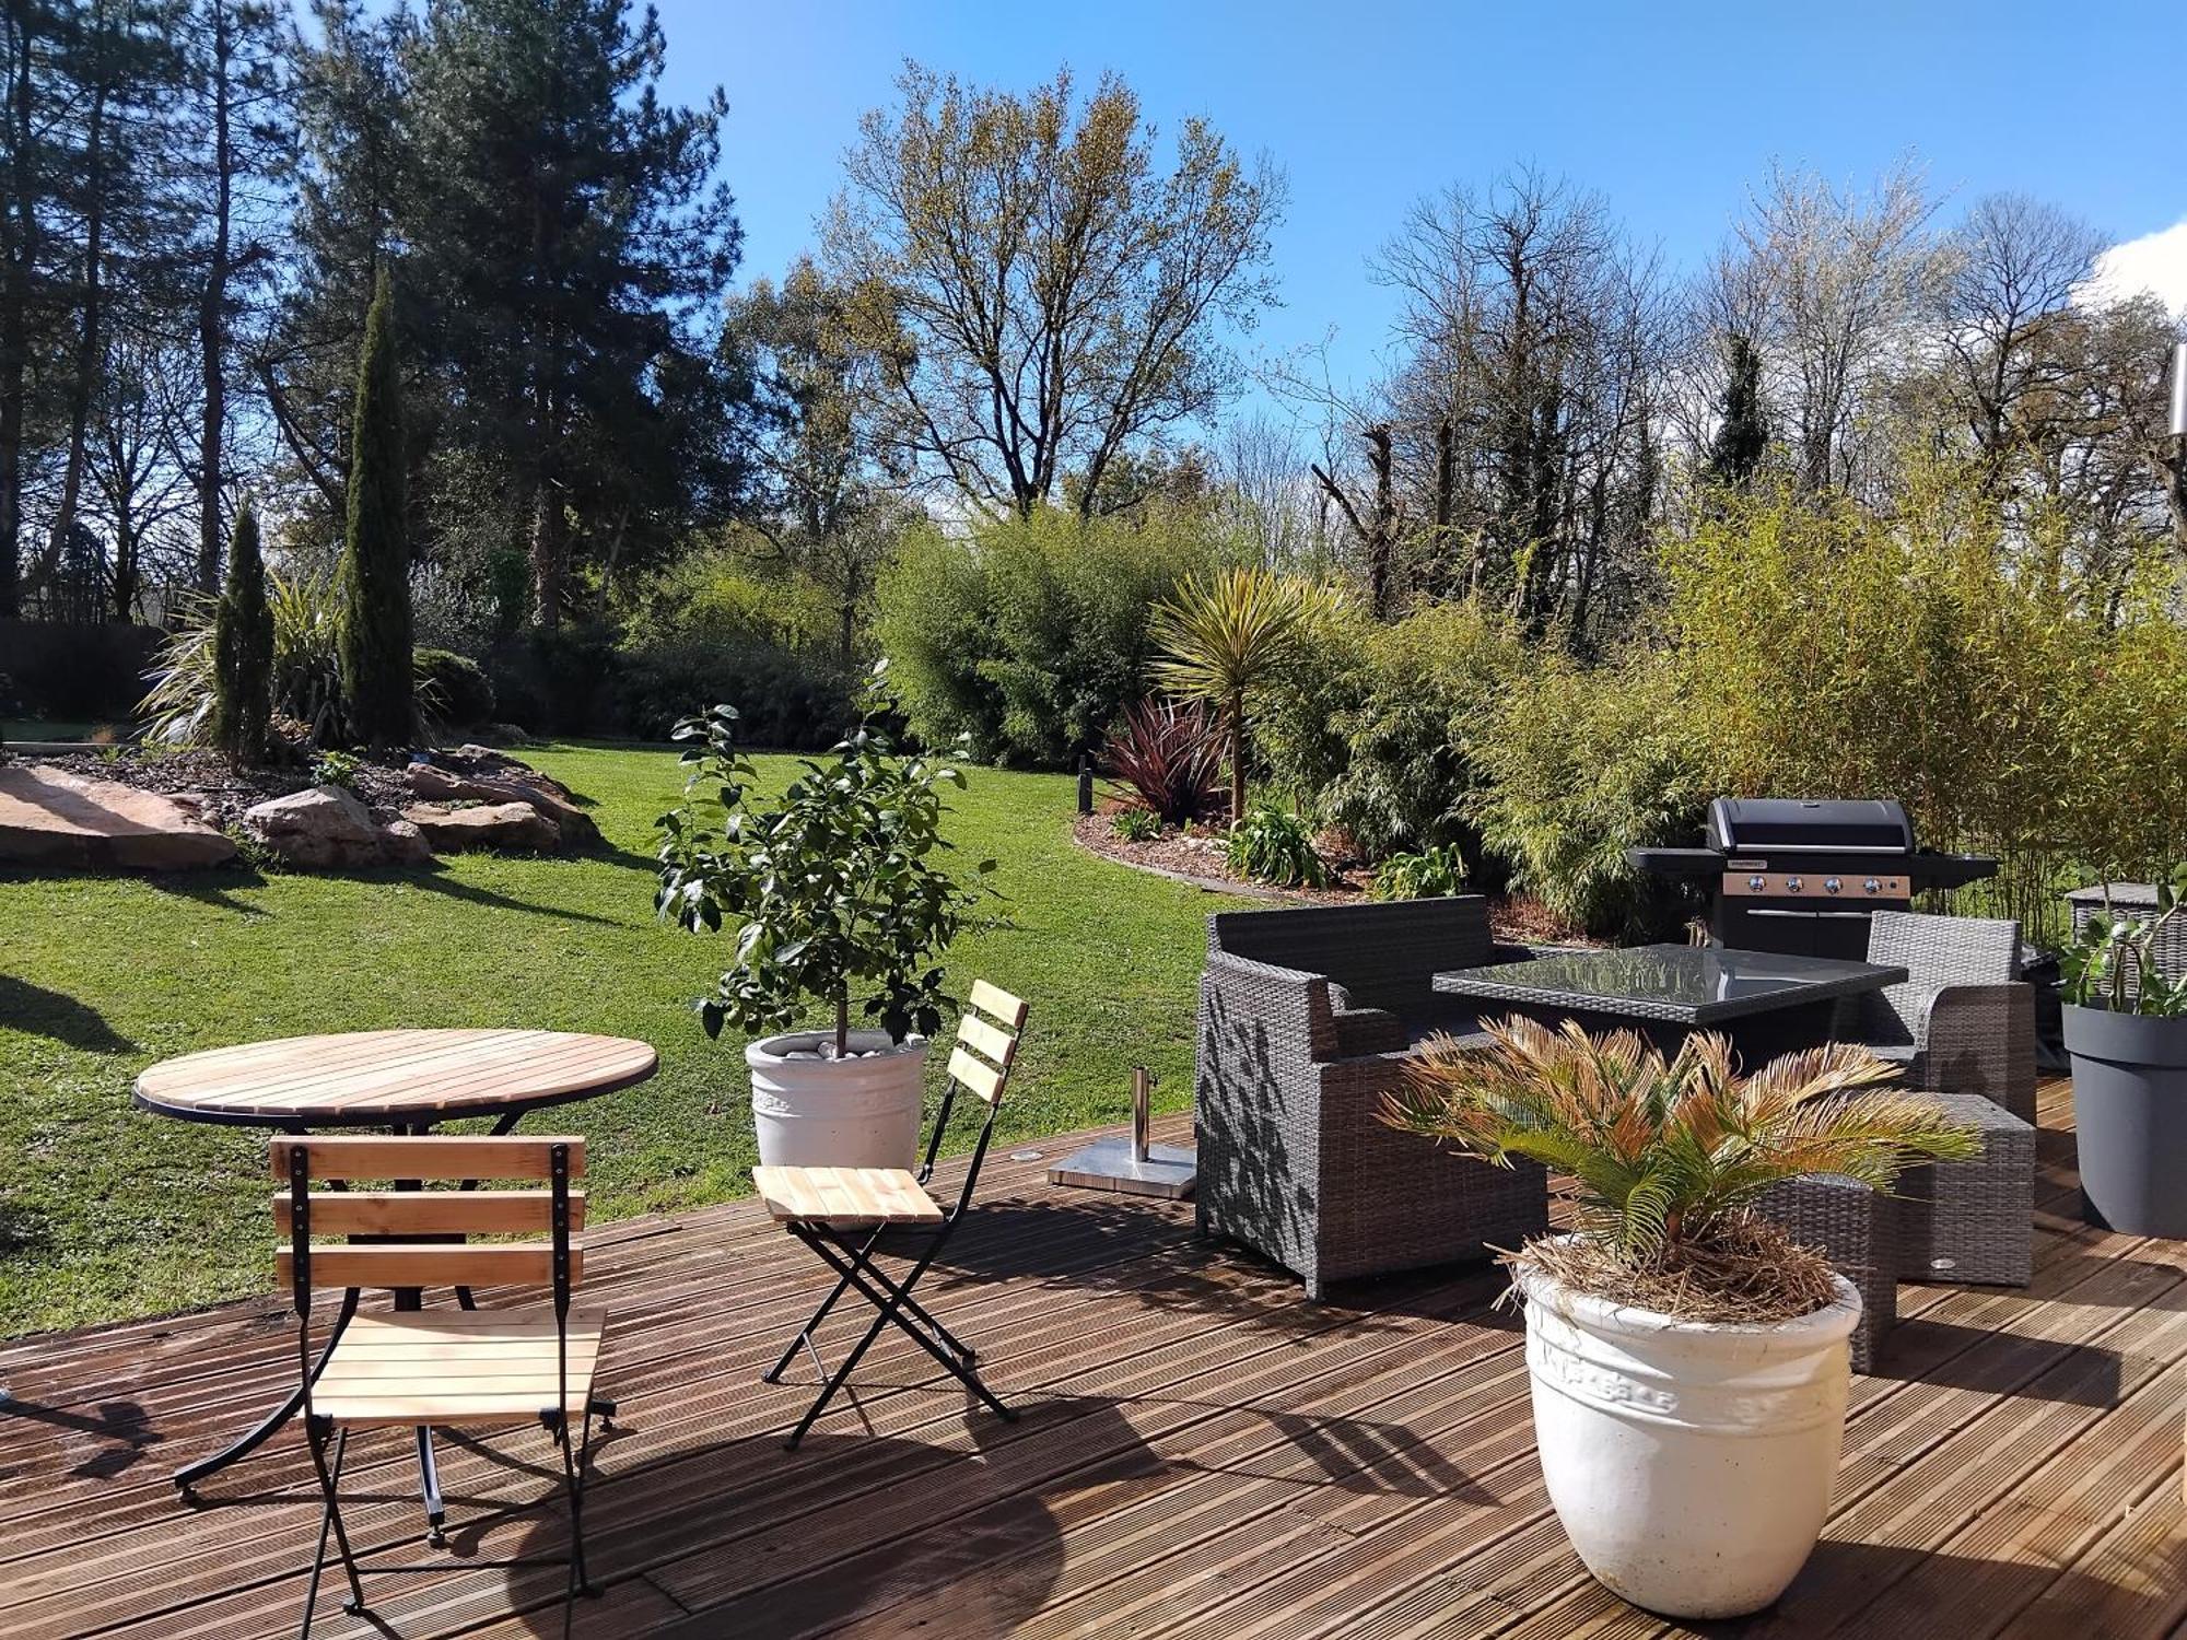
M1207 918L1201 975L1201 1233L1325 1284L1481 1257L1548 1222L1531 1163L1489 1168L1380 1122L1406 1052L1472 1015L1443 969L1527 956L1496 947L1478 897Z

